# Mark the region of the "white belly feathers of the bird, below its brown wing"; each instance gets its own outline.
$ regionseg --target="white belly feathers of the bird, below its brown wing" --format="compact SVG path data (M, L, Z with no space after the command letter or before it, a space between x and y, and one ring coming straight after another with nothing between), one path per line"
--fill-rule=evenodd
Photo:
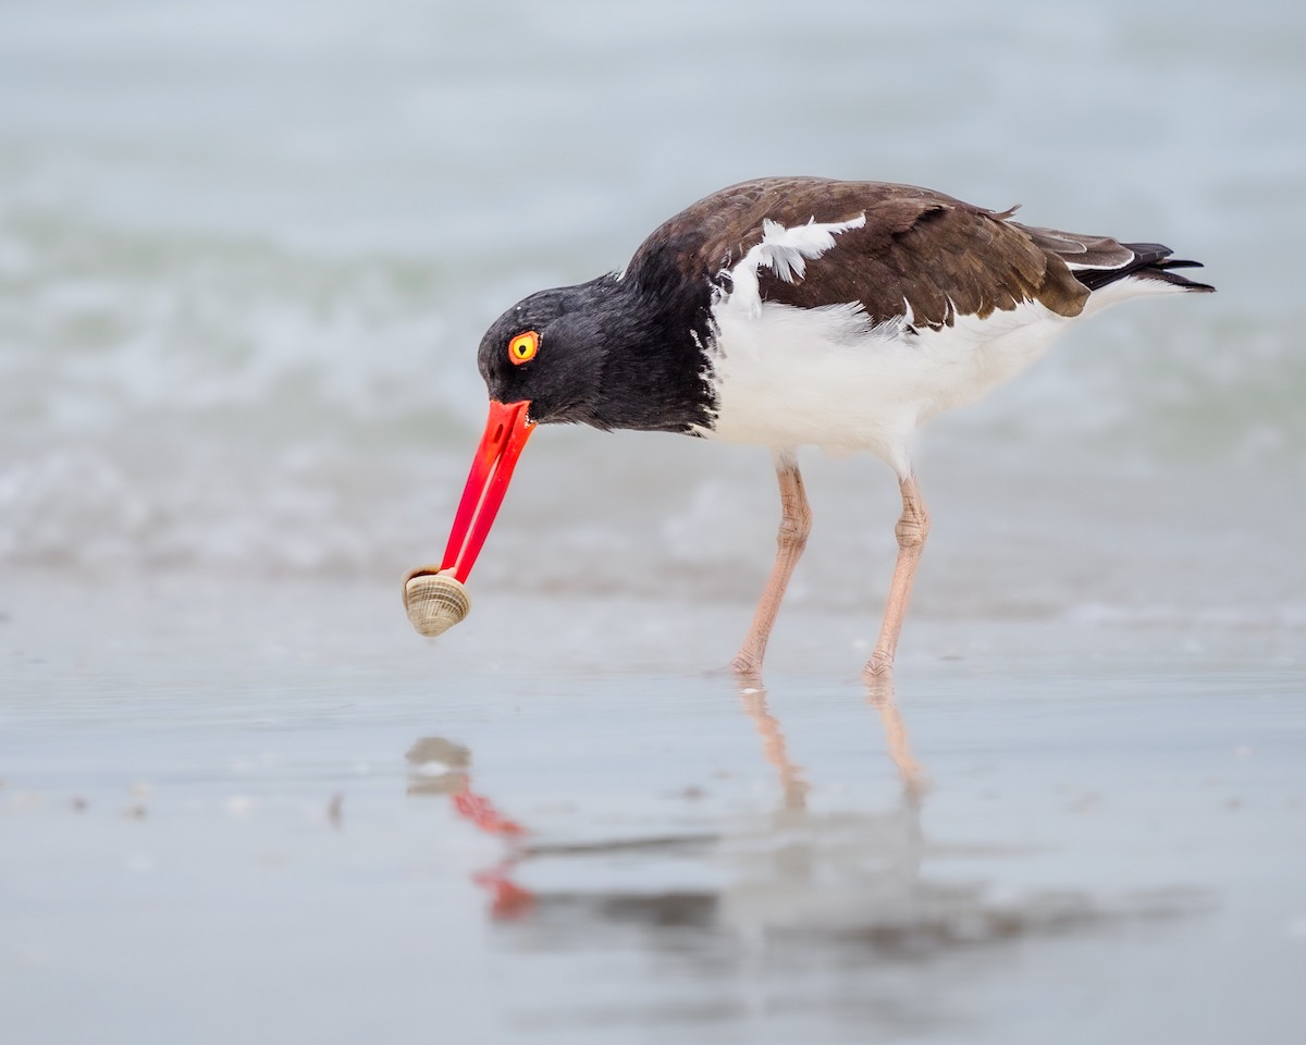
M765 302L760 314L718 307L714 320L717 414L703 435L836 455L870 451L900 474L919 425L1019 374L1066 323L1030 302L919 332L906 320L872 327L857 306Z

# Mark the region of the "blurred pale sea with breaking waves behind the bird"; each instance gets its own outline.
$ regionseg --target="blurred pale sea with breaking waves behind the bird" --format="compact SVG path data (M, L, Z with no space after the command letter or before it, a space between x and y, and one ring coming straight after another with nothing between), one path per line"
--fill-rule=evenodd
M1299 630L1303 54L1286 0L5 3L0 567L397 581L503 308L820 174L1160 240L1220 290L925 431L919 611ZM793 598L870 619L895 485L804 464ZM769 563L761 449L546 430L517 477L478 585L746 601Z

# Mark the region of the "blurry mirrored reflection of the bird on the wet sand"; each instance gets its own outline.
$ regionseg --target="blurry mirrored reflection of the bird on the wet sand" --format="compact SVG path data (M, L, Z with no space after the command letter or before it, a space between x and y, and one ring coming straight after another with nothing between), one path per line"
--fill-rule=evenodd
M556 826L541 837L474 790L466 748L439 738L414 745L409 792L447 798L458 818L503 841L500 858L473 875L490 892L498 942L524 961L547 956L576 982L586 982L596 963L603 971L606 1001L564 991L515 1018L558 1028L653 1025L811 1008L900 1037L955 1029L948 971L976 947L1198 909L1182 892L1106 901L1066 890L999 893L985 878L999 880L996 861L1023 850L927 837L926 773L892 681L872 679L863 695L883 730L896 794L861 797L874 782L872 760L848 782L810 775L754 678L731 696L760 738L778 796L759 815L700 793L680 818L699 829L656 835L594 837L597 824L584 822L576 826L584 837L559 837ZM528 871L547 884L525 888ZM985 959L972 968L991 965Z

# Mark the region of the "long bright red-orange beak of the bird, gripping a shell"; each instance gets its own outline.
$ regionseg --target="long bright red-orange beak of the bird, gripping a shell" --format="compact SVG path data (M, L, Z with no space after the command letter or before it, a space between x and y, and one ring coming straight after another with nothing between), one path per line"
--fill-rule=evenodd
M453 530L449 543L440 560L440 572L453 571L458 583L465 583L471 564L481 554L490 534L494 517L508 492L512 469L517 466L521 448L526 445L535 423L526 418L529 402L490 401L490 419L486 432L481 436L477 456L471 461L471 473L458 502L458 513L453 517Z

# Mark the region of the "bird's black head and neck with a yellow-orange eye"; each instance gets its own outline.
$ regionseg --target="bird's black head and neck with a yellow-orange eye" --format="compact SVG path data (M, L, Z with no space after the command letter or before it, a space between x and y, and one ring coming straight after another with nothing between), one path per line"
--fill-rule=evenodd
M709 423L703 337L691 315L615 276L532 294L481 340L490 398L537 423L691 431Z

